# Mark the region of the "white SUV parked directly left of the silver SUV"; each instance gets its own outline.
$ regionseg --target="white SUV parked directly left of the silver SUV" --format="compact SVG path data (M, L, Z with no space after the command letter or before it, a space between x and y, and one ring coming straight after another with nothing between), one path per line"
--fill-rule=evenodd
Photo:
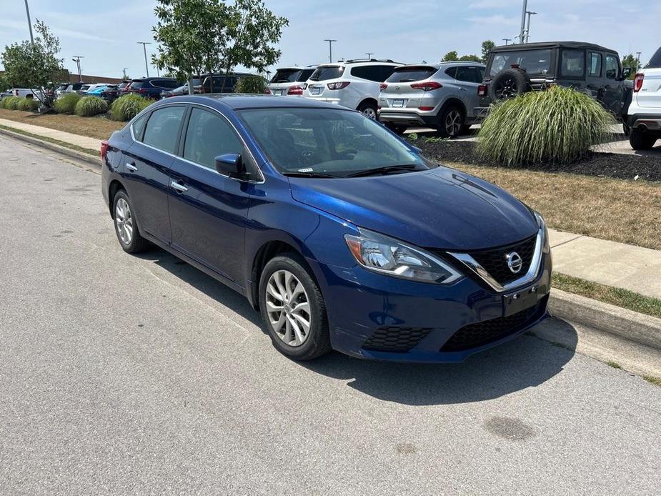
M375 59L322 64L307 80L303 96L348 106L376 119L381 83L401 65Z

